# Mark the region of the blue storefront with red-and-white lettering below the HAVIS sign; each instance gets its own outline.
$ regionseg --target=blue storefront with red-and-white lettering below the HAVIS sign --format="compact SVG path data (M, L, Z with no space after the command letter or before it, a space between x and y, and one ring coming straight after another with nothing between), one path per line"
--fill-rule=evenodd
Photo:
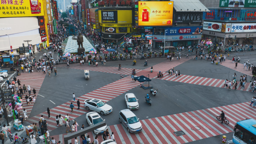
M201 36L202 27L153 27L153 48L163 47L164 42L165 46L193 46Z

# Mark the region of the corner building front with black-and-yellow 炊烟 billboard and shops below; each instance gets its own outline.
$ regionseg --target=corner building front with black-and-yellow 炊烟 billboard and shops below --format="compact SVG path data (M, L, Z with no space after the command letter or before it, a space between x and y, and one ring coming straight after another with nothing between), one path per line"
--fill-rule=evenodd
M132 10L99 8L101 42L116 44L132 31ZM125 15L125 16L124 16Z

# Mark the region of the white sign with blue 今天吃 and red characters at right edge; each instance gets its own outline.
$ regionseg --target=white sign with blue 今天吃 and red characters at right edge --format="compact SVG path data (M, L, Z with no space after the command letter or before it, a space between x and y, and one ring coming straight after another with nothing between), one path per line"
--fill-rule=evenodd
M256 32L256 24L233 24L231 25L231 33Z

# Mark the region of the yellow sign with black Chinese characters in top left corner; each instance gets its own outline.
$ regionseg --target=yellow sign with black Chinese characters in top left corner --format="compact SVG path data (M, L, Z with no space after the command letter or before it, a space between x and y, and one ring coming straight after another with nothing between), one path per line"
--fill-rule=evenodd
M43 0L1 0L0 18L44 16Z

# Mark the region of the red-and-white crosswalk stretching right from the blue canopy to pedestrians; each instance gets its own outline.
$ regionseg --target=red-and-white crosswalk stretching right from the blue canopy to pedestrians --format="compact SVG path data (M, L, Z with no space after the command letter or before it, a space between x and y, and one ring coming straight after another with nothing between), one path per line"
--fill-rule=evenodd
M163 73L164 77L157 78L162 80L170 80L174 82L182 82L182 83L191 83L195 85L203 85L203 86L213 86L218 88L228 88L224 86L225 80L221 79L213 79L213 78L207 78L207 77L199 77L199 76L189 76L189 75L180 75L179 77L175 77L176 74L173 74L172 76L168 75L169 73ZM237 90L238 91L249 91L250 90L250 83L246 83L244 86L244 89L240 87L239 82L237 82ZM235 89L235 86L231 86L231 89Z

